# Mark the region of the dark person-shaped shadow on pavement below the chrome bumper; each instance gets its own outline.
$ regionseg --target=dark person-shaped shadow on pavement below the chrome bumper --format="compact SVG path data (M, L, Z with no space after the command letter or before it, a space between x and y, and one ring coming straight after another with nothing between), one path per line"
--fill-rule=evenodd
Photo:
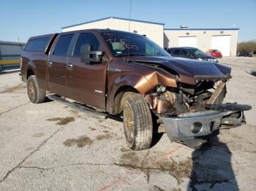
M227 144L213 137L209 144L192 152L192 173L188 190L238 190Z

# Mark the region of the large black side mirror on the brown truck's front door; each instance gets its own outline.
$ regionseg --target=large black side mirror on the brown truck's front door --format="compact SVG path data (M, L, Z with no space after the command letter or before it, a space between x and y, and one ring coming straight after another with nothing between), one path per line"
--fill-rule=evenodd
M103 55L103 51L94 51L91 44L82 44L80 48L82 63L102 63Z

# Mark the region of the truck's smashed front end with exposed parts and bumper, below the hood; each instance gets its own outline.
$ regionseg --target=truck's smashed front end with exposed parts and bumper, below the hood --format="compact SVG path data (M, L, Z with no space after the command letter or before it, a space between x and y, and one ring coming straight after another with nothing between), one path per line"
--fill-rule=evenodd
M227 79L226 79L227 80ZM222 104L226 82L201 79L196 85L179 82L178 87L157 86L156 93L146 95L151 109L159 117L170 140L189 147L203 143L219 133L221 125L241 125L244 110L252 107Z

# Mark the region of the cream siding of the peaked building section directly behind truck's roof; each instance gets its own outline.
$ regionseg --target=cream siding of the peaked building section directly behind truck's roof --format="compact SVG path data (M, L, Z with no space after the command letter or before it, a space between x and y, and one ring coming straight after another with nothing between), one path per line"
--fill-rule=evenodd
M120 31L137 31L138 34L146 35L148 39L159 44L160 47L164 45L164 26L154 23L141 23L137 21L121 20L116 18L109 18L106 20L99 20L93 23L81 24L80 26L72 26L63 28L62 31L76 31L90 28L110 28Z

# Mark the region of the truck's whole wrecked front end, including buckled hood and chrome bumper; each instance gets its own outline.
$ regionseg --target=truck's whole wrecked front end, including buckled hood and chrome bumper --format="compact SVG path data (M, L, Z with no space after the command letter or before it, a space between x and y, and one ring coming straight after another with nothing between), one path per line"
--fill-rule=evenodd
M155 71L146 75L146 79L156 87L144 98L170 140L197 146L218 134L221 125L241 125L245 122L244 111L252 109L248 105L222 104L227 93L226 82L231 78L230 67L155 57L130 58L129 62L154 67ZM162 74L169 75L172 83L167 83L168 77L163 78Z

